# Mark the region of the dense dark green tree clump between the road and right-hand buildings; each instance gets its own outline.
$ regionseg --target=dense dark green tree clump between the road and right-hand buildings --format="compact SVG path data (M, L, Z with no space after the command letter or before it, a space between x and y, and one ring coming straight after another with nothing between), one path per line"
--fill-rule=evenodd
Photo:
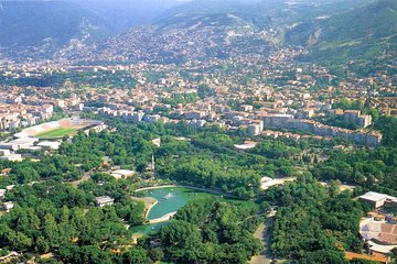
M350 193L326 191L309 174L269 193L276 194L267 199L279 206L271 231L278 255L299 263L344 263L341 248L362 249L357 233L364 213Z

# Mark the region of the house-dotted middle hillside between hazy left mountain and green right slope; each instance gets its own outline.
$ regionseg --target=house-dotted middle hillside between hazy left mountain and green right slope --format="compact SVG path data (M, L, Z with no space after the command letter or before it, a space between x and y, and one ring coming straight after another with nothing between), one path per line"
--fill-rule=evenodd
M168 10L149 28L131 29L81 54L62 55L157 63L243 54L266 56L283 44L294 44L286 42L290 29L299 30L299 24L337 15L367 1L196 0Z

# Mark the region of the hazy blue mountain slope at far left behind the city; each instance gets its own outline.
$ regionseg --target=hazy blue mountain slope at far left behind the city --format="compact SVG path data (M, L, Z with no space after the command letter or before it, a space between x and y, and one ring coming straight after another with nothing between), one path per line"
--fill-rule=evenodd
M11 58L51 58L53 54L79 51L132 25L150 22L171 0L0 0L0 52ZM151 4L154 3L154 4ZM125 6L124 6L125 4Z

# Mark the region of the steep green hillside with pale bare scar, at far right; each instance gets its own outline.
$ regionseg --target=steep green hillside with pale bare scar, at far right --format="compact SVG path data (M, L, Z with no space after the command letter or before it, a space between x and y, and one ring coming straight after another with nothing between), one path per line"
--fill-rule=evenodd
M305 59L345 63L375 58L397 47L397 1L368 6L300 24L287 33L288 44L305 45Z

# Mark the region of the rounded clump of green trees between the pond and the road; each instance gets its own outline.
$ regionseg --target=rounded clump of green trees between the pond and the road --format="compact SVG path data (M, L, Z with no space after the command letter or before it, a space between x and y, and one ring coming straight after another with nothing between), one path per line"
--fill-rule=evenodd
M261 250L251 235L259 220L251 208L212 199L187 202L161 228L167 260L181 263L246 263Z

